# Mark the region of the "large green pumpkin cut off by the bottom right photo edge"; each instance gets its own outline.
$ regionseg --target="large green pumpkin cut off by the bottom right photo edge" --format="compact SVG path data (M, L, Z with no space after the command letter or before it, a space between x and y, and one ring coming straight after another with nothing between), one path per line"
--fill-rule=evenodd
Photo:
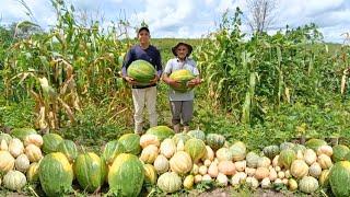
M350 162L340 161L336 163L328 175L332 194L336 197L350 196Z

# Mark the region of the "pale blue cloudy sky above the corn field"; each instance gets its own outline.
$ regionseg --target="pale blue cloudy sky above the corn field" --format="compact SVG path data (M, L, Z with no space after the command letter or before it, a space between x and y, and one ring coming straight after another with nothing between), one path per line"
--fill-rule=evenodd
M50 0L23 0L31 9L34 22L44 30L56 23ZM144 21L152 37L198 38L219 28L222 14L236 7L248 19L246 0L66 0L77 12L85 11L91 18L108 26L120 19L137 26ZM0 24L31 20L19 0L0 0ZM315 23L325 42L342 43L343 33L350 32L350 0L277 0L269 33ZM246 23L243 32L250 33ZM133 32L132 32L133 33ZM132 36L132 35L131 35Z

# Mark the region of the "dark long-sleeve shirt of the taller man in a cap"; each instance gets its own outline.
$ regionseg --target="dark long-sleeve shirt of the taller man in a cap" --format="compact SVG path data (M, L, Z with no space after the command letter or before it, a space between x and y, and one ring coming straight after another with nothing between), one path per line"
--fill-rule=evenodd
M130 66L130 63L135 60L142 59L145 61L149 61L156 70L156 74L159 78L162 76L162 59L160 51L153 46L150 45L147 49L142 49L140 45L135 45L130 48L130 50L127 53L126 58L122 62L121 73L122 77L127 77L127 69ZM155 84L149 85L154 86ZM132 85L135 89L140 88L147 88L147 86L140 86L140 85Z

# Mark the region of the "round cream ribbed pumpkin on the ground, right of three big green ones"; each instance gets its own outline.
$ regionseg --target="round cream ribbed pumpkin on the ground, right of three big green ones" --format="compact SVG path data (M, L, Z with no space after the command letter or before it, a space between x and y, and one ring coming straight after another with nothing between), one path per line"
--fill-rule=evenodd
M175 172L166 172L158 178L158 187L164 193L175 193L182 188L182 178Z

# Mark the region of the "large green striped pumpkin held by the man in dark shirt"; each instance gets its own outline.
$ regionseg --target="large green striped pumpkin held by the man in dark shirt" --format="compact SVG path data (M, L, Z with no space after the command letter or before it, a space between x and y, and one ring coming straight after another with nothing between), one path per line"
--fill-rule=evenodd
M154 79L155 69L150 62L140 59L131 62L127 73L140 85L148 85Z

